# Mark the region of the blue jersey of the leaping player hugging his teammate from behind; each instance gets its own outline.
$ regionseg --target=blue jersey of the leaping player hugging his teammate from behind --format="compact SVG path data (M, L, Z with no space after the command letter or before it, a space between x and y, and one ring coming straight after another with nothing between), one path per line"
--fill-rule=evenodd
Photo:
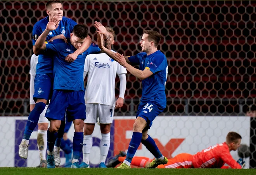
M36 39L45 31L47 23L49 22L49 17L45 17L44 19L36 22L33 27L33 45L36 43ZM74 22L72 19L62 17L62 20L59 23L59 26L56 30L50 31L46 41L51 39L54 36L59 34L64 34L65 37L70 37L70 33L73 32L73 27L77 23ZM53 69L53 60L52 60L52 53L48 52L43 55L39 55L38 63L36 65L36 74L48 74L52 73Z

